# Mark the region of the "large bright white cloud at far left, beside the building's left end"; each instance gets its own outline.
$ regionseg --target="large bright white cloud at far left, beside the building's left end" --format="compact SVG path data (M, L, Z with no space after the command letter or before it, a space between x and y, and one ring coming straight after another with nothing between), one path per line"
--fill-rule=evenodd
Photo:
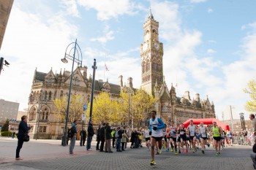
M39 13L24 12L14 3L1 47L1 56L10 62L10 67L1 74L4 83L0 83L0 96L18 101L20 110L28 107L36 67L38 72L49 72L50 67L53 72L59 72L61 67L71 68L70 63L64 65L60 59L78 33L78 28L61 13L48 20Z

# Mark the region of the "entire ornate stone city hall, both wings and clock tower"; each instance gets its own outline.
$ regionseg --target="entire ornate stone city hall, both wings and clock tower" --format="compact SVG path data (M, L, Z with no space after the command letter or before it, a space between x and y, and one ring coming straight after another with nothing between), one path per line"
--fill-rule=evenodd
M159 23L154 20L153 15L148 15L148 20L143 24L143 44L140 45L141 57L141 88L150 95L157 98L154 109L157 115L169 123L173 120L176 125L183 123L189 118L215 117L214 104L208 97L200 99L200 95L195 94L195 99L191 99L189 91L184 92L183 97L176 96L176 89L171 85L168 90L163 77L162 57L164 48L159 42ZM110 93L111 96L120 96L123 88L129 88L131 93L136 89L132 85L132 77L127 79L127 85L123 85L123 77L118 77L118 85L102 80L95 80L94 94L101 92ZM34 78L29 96L29 124L32 125L30 134L36 136L38 128L39 139L50 139L52 136L62 136L64 134L64 122L53 114L56 110L53 100L69 93L70 72L65 71L54 74L52 69L48 73L34 72ZM75 69L72 77L72 94L80 94L86 102L91 97L91 76L87 76L87 67ZM128 113L127 113L128 114ZM141 121L142 126L146 125L146 120ZM127 123L128 124L128 123Z

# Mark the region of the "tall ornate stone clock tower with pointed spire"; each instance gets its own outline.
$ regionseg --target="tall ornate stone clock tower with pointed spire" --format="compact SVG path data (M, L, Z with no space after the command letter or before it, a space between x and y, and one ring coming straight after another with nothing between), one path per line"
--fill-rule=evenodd
M158 39L158 28L159 23L154 20L150 10L148 20L143 23L144 42L140 45L141 88L153 96L156 81L159 85L163 83L163 45Z

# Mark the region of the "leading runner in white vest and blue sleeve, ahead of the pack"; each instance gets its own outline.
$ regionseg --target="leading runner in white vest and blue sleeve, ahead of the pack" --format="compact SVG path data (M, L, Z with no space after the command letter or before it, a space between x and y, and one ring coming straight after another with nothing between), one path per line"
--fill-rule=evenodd
M151 166L156 164L154 161L154 146L156 145L156 142L158 142L159 153L162 153L162 128L165 128L165 124L160 118L156 117L156 115L156 111L151 111L151 119L149 120L149 129L151 131Z

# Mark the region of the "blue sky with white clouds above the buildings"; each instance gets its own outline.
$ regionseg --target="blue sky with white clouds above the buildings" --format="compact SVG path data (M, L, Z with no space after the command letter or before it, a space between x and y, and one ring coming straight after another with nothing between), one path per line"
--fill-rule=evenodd
M132 77L140 88L140 45L149 9L159 22L167 87L189 90L214 102L217 118L247 115L243 92L256 79L254 0L19 0L14 1L0 56L10 63L0 75L0 98L28 108L34 71L71 70L62 63L67 45L78 41L83 65L97 60L96 79L118 84ZM105 64L108 72L105 72ZM105 76L104 76L105 75ZM245 115L247 118L248 116Z

